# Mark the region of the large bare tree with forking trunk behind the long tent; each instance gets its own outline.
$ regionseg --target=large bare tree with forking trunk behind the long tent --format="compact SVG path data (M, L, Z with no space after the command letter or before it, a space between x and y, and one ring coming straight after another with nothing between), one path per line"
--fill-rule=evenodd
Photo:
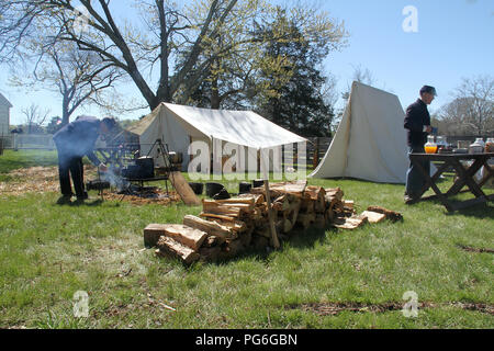
M242 53L243 39L215 47L218 37L242 29L244 18L234 11L238 2L244 4L238 9L255 7L258 14L270 8L255 0L135 0L141 16L120 20L111 0L80 0L81 8L69 0L0 0L0 54L3 60L19 57L19 43L33 35L33 26L52 26L57 30L54 39L75 43L128 75L154 110L187 95L209 78L220 58ZM78 21L85 31L75 30ZM177 57L180 65L172 63Z

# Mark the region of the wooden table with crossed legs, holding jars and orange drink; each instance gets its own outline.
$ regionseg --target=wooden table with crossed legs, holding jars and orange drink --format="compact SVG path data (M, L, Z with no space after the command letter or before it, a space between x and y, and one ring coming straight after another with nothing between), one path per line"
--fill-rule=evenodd
M445 205L449 212L458 211L469 206L473 206L481 203L486 203L489 201L494 201L494 194L486 195L482 191L482 186L494 177L494 169L489 165L489 160L494 157L494 152L484 154L411 154L411 161L417 167L426 180L426 184L420 191L420 196L418 201L439 199L439 201ZM422 167L423 161L440 161L444 162L438 167L436 173L430 177ZM461 161L473 161L471 165ZM467 165L465 165L467 163ZM482 168L486 169L486 174L481 182L475 182L474 176ZM451 188L442 193L437 186L436 182L439 177L448 169L453 169L458 178L454 180ZM460 193L460 191L468 186L469 191L475 196L471 200L465 201L451 201L450 197ZM422 197L424 193L431 188L436 195L430 195Z

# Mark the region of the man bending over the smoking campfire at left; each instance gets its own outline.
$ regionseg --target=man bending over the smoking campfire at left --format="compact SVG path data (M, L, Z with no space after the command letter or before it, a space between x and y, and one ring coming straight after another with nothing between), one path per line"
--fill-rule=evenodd
M115 120L109 117L100 121L90 116L81 116L55 133L53 139L58 151L58 178L61 191L58 203L69 202L72 196L69 176L72 177L77 200L88 199L83 183L82 157L88 156L94 166L105 171L106 166L93 152L94 144L101 134L109 133L115 124Z

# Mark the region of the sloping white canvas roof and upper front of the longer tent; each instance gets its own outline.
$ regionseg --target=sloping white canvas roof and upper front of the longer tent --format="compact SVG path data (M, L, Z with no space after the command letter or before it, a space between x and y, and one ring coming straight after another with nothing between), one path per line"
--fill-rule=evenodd
M165 102L128 132L138 136L143 155L149 152L158 138L170 151L181 152L183 170L189 163L189 145L197 140L205 141L211 150L213 139L255 149L306 141L251 111L199 109Z

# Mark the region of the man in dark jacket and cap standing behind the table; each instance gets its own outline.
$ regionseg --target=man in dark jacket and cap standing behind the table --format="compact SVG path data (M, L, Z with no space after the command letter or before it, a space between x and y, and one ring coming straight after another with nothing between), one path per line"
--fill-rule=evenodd
M433 132L427 105L437 97L436 89L430 86L424 86L419 93L420 98L406 109L404 121L404 127L407 129L408 155L425 154L424 145L427 143L427 135ZM426 172L430 172L430 163L428 161L425 161L422 166ZM405 203L411 204L418 200L424 184L424 177L411 162L406 172Z

